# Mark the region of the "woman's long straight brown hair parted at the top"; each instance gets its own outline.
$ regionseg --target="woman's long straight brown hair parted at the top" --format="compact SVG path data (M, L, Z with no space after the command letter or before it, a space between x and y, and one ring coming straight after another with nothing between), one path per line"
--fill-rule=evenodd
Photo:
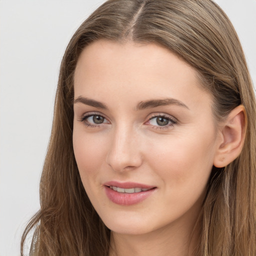
M237 34L211 0L108 0L74 33L60 67L40 181L41 208L23 233L21 255L31 230L30 255L108 255L110 230L84 191L72 149L74 69L81 50L102 38L154 42L182 57L200 74L201 86L213 95L216 121L244 105L244 146L233 162L212 168L198 218L196 254L256 255L255 96Z

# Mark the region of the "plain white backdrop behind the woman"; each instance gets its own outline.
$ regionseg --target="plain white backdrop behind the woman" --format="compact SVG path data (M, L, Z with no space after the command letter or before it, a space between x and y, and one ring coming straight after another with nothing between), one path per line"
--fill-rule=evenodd
M18 256L39 208L61 57L103 0L0 0L0 256ZM256 0L216 0L233 22L256 84Z

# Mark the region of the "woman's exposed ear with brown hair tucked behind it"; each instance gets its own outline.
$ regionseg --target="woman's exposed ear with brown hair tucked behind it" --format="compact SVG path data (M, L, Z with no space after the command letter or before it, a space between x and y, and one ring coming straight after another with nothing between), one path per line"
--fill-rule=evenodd
M220 127L220 139L213 161L215 167L224 167L238 157L244 143L246 127L246 111L243 105L238 105Z

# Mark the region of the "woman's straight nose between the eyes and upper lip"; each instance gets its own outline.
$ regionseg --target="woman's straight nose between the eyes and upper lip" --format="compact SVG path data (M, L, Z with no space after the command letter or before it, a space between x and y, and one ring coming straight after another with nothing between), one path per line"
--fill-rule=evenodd
M114 171L123 172L139 167L142 163L139 136L129 127L112 131L106 162Z

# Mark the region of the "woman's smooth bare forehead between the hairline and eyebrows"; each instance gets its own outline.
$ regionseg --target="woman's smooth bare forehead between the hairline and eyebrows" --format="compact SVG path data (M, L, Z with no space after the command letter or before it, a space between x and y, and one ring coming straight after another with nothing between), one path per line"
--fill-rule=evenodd
M103 102L111 93L115 101L130 97L130 104L132 100L135 104L164 97L175 97L186 105L197 104L202 97L210 101L210 95L199 86L197 71L167 48L107 40L95 41L81 52L74 93L75 97L89 95Z

